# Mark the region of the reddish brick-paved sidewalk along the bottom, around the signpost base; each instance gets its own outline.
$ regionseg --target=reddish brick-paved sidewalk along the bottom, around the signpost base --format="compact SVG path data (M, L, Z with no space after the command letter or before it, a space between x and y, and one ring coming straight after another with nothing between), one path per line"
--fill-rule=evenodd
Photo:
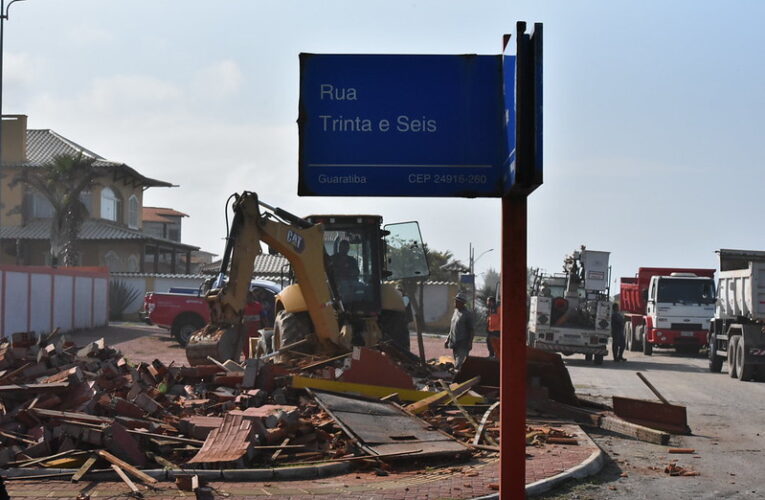
M564 426L577 435L583 431L577 426ZM546 445L528 447L526 484L556 476L576 467L597 451L589 438L579 445ZM499 482L499 463L496 458L475 459L455 465L439 464L415 470L392 471L379 476L375 471L356 471L342 476L299 481L268 482L212 482L212 496L207 498L236 499L468 499L496 493ZM194 498L189 492L179 491L171 482L159 483L156 491L141 487L145 498ZM76 498L84 493L91 498L128 497L130 490L119 482L26 480L9 481L11 498L28 500L50 498ZM200 498L203 498L200 496Z

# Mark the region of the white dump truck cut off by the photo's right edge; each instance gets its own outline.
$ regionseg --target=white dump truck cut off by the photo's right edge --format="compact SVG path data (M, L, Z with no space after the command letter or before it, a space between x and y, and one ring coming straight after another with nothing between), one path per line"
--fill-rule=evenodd
M718 251L720 277L708 332L709 371L765 379L765 252Z

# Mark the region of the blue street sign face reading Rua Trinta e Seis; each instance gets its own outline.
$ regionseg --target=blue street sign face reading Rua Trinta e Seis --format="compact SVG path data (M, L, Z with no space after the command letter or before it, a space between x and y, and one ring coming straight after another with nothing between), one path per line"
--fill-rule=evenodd
M298 194L501 196L513 59L301 54Z

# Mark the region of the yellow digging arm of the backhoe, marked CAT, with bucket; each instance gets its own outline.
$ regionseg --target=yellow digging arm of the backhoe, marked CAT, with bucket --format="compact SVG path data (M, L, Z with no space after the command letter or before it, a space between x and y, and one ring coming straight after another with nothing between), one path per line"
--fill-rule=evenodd
M211 321L192 335L186 347L189 363L207 364L208 356L221 362L239 359L243 311L255 258L261 253L261 241L292 265L313 323L318 350L331 353L350 349L348 335L341 334L337 301L327 277L323 226L260 202L257 194L249 191L235 197L234 219L220 273L206 295ZM268 211L261 213L261 206Z

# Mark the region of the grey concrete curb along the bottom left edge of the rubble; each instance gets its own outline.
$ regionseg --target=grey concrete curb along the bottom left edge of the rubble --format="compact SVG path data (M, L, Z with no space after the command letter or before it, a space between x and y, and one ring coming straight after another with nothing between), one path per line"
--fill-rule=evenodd
M350 462L332 462L319 465L303 465L296 467L269 467L266 469L185 469L185 470L165 470L165 469L145 469L141 472L148 474L158 481L173 481L176 476L182 474L197 474L200 477L218 481L269 481L269 480L294 480L294 479L316 479L318 477L328 477L348 472L351 468ZM41 474L74 474L79 469L33 469L33 468L12 468L0 469L0 474L5 477L28 477ZM120 481L119 476L112 471L90 472L88 476L95 476L101 480ZM66 479L66 478L62 478Z

